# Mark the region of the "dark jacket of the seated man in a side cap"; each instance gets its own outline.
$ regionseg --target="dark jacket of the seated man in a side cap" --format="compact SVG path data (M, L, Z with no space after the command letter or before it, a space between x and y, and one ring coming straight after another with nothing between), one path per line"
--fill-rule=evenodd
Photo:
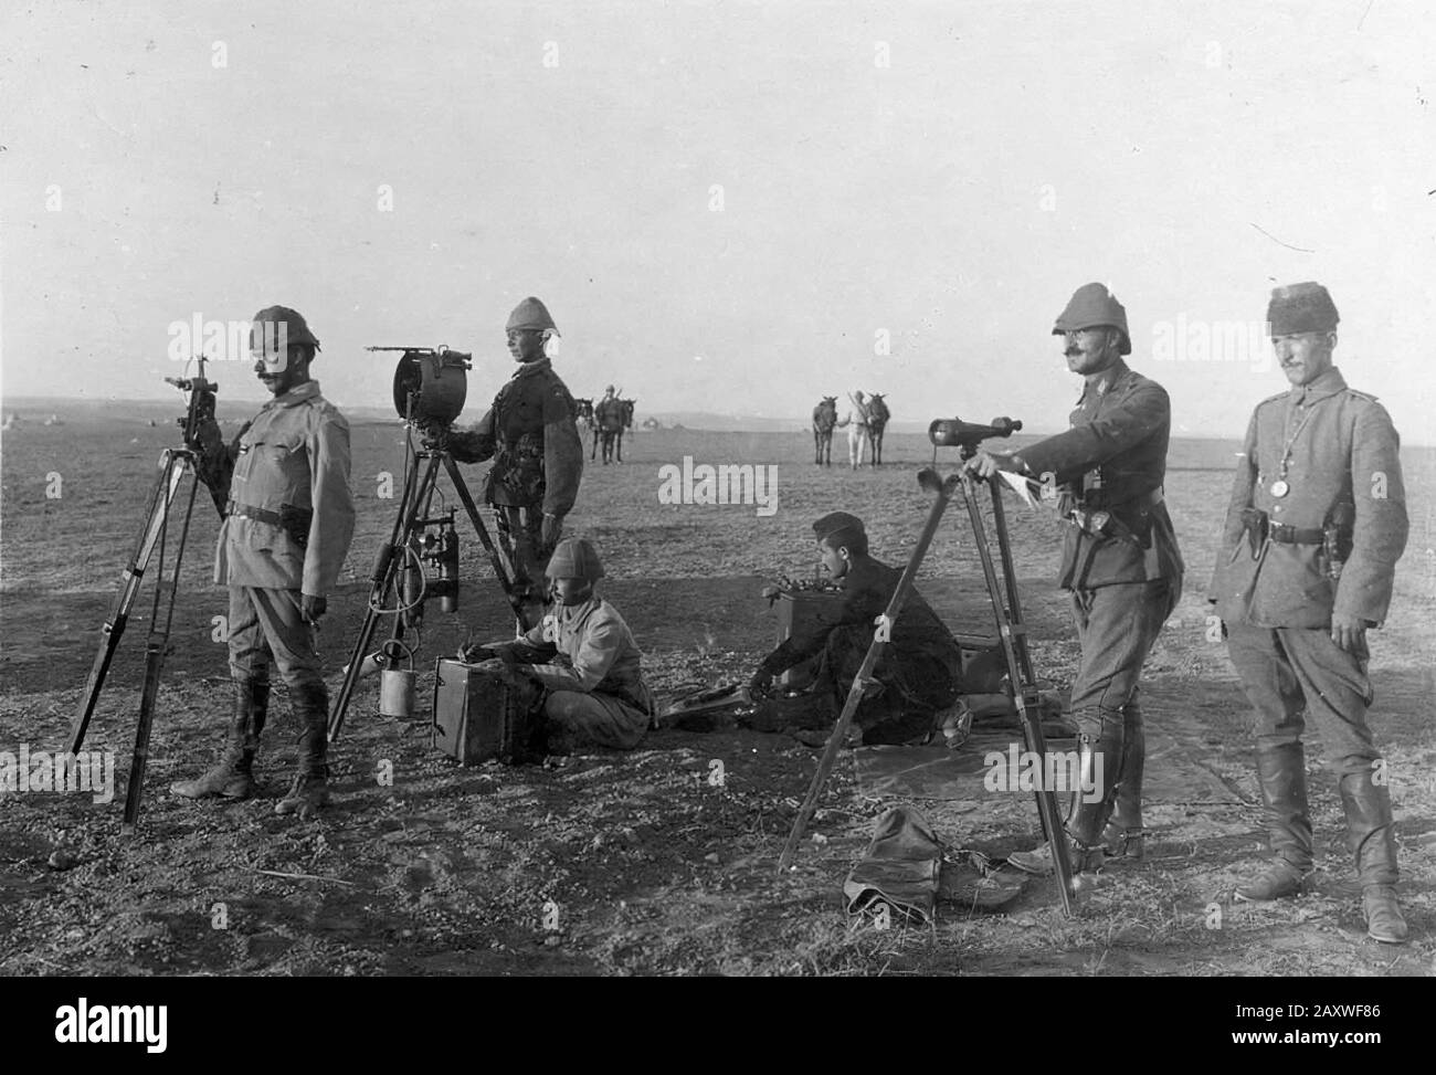
M811 624L807 629L794 632L777 650L763 661L763 668L774 675L787 671L794 664L817 655L827 645L829 635L837 628L863 628L876 634L877 625L873 622L887 611L887 602L902 572L889 568L882 560L872 556L854 556L839 585L843 588L843 605L823 622ZM962 652L958 640L952 637L946 625L923 601L922 595L913 589L908 594L902 611L898 612L898 622L892 625L890 645L885 652L879 668L889 661L903 664L905 657L931 657L945 664L956 677L962 670Z

